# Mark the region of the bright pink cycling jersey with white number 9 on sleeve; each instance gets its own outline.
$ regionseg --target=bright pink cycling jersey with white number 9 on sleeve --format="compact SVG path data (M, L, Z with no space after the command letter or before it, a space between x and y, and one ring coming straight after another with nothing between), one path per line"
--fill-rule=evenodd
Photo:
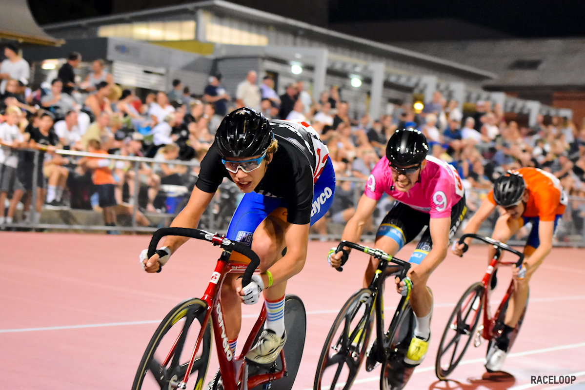
M388 158L381 158L371 171L364 194L378 201L384 192L398 202L429 213L431 218L450 216L451 208L465 193L455 168L432 156L426 157L426 167L421 171L420 180L407 192L394 189Z

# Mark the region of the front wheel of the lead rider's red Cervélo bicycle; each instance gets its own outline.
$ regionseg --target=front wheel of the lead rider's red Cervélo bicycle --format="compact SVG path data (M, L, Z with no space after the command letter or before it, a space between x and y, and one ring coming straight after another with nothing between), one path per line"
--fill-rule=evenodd
M171 382L183 381L192 347L195 347L200 332L203 332L201 345L190 375L193 378L192 375L197 372L194 388L202 387L211 353L211 328L209 323L205 329L201 327L206 309L207 303L190 298L168 312L144 351L132 385L133 390L167 390L173 388ZM185 344L187 348L184 348ZM168 363L163 366L165 360Z

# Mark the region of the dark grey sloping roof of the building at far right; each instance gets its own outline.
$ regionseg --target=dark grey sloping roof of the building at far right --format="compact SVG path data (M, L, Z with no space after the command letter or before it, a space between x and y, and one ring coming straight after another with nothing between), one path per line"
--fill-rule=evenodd
M497 74L487 89L573 89L585 85L585 39L395 42L409 50Z

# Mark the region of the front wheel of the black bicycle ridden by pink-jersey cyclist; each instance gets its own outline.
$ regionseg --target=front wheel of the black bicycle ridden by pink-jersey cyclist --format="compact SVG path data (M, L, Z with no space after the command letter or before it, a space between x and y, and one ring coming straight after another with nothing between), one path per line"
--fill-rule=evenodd
M367 288L357 291L343 305L325 339L314 390L342 386L347 390L352 386L370 339L373 305L373 293Z

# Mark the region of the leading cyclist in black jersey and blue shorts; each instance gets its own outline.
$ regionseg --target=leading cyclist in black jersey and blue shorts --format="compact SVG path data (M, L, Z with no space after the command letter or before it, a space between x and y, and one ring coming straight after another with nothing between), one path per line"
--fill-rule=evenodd
M327 147L307 122L269 121L253 109L236 109L219 125L215 141L201 161L189 202L171 227L197 227L225 177L245 193L227 237L252 247L260 257L261 273L253 275L246 286L235 275L226 277L221 289L224 341L235 354L242 323L240 302L256 303L263 292L267 309L264 331L246 358L269 364L276 360L287 339L287 280L304 267L309 226L331 206L335 173ZM146 250L142 251L144 270L158 272L185 241L185 237L167 236L152 257L146 258Z

